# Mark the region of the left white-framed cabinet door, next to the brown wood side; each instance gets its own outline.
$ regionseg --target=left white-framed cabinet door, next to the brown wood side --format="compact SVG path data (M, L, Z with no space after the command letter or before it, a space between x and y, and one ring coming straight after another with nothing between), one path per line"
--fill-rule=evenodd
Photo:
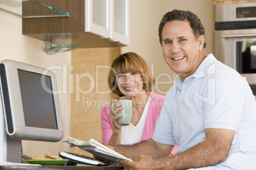
M110 1L85 0L85 32L110 39Z

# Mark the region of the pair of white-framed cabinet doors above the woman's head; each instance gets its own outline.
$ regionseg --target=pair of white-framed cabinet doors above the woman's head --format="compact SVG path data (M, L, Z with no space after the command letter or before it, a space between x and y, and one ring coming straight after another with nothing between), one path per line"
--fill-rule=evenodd
M129 46L129 0L85 0L85 31Z

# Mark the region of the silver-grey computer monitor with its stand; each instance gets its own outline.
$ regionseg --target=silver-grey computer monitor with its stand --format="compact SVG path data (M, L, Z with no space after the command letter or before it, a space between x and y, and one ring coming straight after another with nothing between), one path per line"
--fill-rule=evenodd
M63 129L55 75L41 67L3 60L0 77L0 162L20 162L22 140L60 141Z

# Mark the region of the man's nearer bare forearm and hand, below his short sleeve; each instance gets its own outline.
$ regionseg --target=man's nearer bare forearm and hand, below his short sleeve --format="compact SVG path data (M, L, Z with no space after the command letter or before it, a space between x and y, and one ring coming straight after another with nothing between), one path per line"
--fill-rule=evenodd
M139 155L132 159L118 160L125 169L188 169L213 166L227 158L234 131L227 129L205 129L206 140L185 152L169 158L153 159ZM148 148L151 150L151 148Z

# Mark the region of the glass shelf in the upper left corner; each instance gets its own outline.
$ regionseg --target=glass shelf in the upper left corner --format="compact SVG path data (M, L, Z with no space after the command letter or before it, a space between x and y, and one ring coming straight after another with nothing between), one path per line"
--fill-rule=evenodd
M69 16L67 12L35 0L0 0L0 10L22 18Z

